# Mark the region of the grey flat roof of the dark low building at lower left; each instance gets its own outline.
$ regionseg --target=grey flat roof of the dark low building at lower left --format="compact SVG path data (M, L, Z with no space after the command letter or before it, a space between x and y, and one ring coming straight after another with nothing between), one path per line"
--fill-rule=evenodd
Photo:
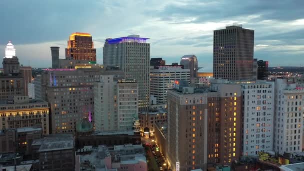
M74 148L74 138L71 134L56 134L44 137L39 152L57 151Z

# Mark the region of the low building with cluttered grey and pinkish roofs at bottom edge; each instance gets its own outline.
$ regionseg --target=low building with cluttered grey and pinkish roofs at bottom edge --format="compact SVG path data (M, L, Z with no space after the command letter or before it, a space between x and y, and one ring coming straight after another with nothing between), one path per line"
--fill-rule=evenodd
M85 146L76 152L76 170L146 171L147 161L142 145L118 145L97 148Z

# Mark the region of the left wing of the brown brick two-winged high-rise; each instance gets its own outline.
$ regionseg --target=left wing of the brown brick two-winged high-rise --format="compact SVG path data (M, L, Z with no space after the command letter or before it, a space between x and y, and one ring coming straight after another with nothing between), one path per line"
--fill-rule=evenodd
M184 91L184 92L183 92ZM207 164L207 93L193 88L169 89L167 161L172 170L206 169ZM185 94L185 91L189 92Z

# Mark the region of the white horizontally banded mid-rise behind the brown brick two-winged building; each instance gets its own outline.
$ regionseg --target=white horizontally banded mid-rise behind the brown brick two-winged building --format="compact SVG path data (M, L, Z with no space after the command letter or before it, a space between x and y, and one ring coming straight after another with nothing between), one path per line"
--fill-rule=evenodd
M175 80L187 80L190 82L190 69L181 66L159 66L150 70L150 91L156 97L157 104L167 102L167 89L173 88Z

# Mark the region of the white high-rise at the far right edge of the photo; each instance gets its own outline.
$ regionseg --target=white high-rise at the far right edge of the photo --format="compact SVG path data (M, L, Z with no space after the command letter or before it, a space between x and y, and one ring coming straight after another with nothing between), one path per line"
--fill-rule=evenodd
M275 80L274 151L302 151L304 90L287 79Z

